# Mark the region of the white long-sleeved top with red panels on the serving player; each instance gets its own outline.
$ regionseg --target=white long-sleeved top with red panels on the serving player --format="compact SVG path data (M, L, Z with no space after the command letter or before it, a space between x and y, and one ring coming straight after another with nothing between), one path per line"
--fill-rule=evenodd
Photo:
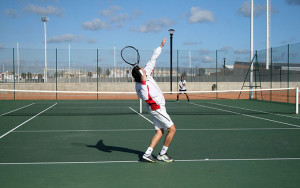
M165 98L158 87L156 81L152 77L152 72L155 67L156 59L161 53L161 47L154 50L150 61L144 68L146 71L147 80L141 83L136 82L135 90L138 97L147 103L150 110L158 110L161 106L165 106Z

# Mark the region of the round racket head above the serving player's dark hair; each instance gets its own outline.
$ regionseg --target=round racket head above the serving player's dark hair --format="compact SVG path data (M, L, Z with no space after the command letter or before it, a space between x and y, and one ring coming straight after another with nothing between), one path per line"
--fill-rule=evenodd
M140 63L139 51L133 46L126 46L121 50L122 59L131 66L138 66Z

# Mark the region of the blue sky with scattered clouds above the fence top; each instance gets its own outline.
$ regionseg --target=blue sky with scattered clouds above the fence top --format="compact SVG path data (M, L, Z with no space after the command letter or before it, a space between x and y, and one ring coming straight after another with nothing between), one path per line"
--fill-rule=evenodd
M270 0L271 46L300 42L300 0ZM265 48L266 0L254 0L254 48ZM250 0L1 0L0 48L248 50ZM167 46L169 48L169 46Z

